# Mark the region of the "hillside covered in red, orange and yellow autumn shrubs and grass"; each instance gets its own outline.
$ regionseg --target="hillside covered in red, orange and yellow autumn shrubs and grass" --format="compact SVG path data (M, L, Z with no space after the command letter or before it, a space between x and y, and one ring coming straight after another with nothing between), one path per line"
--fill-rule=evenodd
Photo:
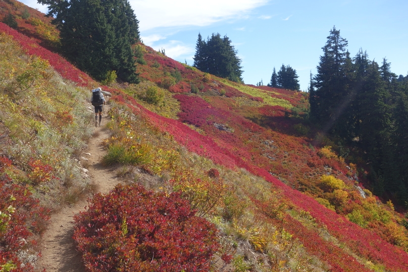
M21 16L27 10L29 18L42 20L21 3L9 0L2 5L3 16L8 14L4 11ZM21 33L0 23L0 185L2 194L10 195L0 205L6 215L0 224L0 264L2 269L17 265L16 270L26 271L29 268L21 268L22 264L35 265L35 240L46 228L49 210L55 212L63 203L75 202L91 191L78 159L92 133L87 96L99 83L43 47L56 48L39 27L51 27L49 21L30 27L23 19L16 21ZM49 33L57 33L53 31ZM155 191L119 186L95 197L89 205L94 210L76 218L75 239L90 271L101 269L92 263L102 265L115 255L105 252L93 258L92 248L84 243L91 231L86 225L93 222L92 228L97 229L101 224L95 211L108 209L101 208L105 201L112 204L106 213L114 213L104 220L119 225L116 231L105 233L113 238L104 240L104 246L111 248L121 241L126 247L117 252L124 254L123 259L134 258L133 263L142 259L143 265L151 265L138 269L163 265L157 255L155 262L146 262L154 259L155 252L165 251L160 242L155 241L158 251L139 248L139 255L132 255L134 241L121 240L131 226L138 227L135 222L140 223L136 218L140 211L132 210L129 202L115 202L126 199L124 195L130 197L132 190L158 199L151 207L167 203L169 213L179 220L188 218L197 226L195 230L209 230L209 236L191 230L180 231L177 238L163 234L167 240L162 240L171 244L188 235L207 237L201 238L201 247L192 244L186 249L203 267L212 265L220 271L408 270L403 215L394 211L391 201L383 203L365 188L369 183L364 161L353 157L352 151L344 152L347 147L308 122L308 93L240 85L201 73L141 43L135 47L141 83L102 87L113 94L104 162L123 165L118 175L123 183L140 183ZM141 182L141 173L159 178L160 183ZM31 208L24 208L28 202ZM125 208L115 210L115 205ZM180 208L188 205L197 210L195 216ZM37 227L38 218L42 223ZM22 245L12 234L23 225L19 235L29 243ZM217 236L211 236L213 232ZM188 239L180 244L188 246ZM198 254L200 248L206 249L204 255ZM26 249L34 257L21 253Z

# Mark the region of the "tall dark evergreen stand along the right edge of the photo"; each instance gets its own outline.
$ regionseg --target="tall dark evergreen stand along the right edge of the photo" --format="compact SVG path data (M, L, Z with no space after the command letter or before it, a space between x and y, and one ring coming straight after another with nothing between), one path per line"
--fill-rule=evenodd
M311 75L310 118L362 151L376 194L408 208L408 76L397 77L387 59L377 63L362 49L350 57L346 47L333 27Z

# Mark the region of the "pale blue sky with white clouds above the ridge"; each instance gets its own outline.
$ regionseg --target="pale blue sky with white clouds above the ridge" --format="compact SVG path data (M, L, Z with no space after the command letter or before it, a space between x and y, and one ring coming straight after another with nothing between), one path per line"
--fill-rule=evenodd
M36 0L24 4L46 12ZM371 60L391 62L391 71L408 74L406 0L129 0L144 44L193 64L198 33L227 35L241 58L246 84L267 85L273 68L290 65L307 90L310 73L335 26L354 56L360 48Z

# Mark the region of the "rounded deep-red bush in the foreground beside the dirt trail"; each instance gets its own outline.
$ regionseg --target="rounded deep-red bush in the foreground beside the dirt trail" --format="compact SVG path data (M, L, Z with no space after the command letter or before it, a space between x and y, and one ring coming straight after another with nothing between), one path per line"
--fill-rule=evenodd
M195 212L179 193L119 184L74 217L74 239L88 271L208 270L217 230Z

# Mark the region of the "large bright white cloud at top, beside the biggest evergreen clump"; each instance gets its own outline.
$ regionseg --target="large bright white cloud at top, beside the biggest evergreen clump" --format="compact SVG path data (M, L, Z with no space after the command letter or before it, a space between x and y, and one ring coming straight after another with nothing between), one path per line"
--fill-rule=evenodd
M270 0L130 0L140 31L158 27L207 26L235 18L245 18L246 13Z

